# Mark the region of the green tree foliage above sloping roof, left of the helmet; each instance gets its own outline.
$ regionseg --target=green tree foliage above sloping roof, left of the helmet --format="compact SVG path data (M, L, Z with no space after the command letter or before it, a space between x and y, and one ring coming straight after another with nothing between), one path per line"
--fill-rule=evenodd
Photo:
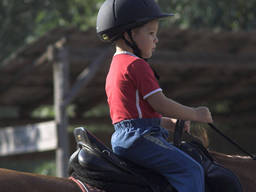
M95 26L104 0L0 1L0 61L52 28Z

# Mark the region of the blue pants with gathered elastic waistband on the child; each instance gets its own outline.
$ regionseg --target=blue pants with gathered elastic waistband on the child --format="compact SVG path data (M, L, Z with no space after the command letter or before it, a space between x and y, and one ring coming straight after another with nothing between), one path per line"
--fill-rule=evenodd
M167 142L160 119L124 120L114 128L114 153L163 175L178 192L204 192L202 166Z

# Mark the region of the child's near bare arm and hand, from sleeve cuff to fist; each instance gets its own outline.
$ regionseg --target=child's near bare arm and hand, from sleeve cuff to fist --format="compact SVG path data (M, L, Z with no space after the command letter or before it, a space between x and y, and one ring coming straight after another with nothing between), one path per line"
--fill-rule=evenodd
M165 117L199 121L204 123L212 122L212 116L207 107L188 107L167 98L163 92L150 95L147 101L151 107Z

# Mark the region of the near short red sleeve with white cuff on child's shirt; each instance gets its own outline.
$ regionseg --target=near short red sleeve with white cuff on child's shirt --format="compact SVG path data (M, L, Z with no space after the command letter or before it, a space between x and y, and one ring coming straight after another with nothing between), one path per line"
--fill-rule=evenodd
M153 70L146 61L142 59L135 60L129 66L128 71L143 99L147 99L150 95L162 91Z

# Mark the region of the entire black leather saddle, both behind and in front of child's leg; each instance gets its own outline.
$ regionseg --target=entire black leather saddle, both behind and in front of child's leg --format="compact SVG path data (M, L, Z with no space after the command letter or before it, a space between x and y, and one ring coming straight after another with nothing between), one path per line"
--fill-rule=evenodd
M181 140L184 121L178 121L174 145L202 165L206 192L242 192L239 179L217 164L207 149L198 142ZM77 150L69 161L69 175L90 186L110 192L177 192L158 173L123 160L86 128L74 130Z

